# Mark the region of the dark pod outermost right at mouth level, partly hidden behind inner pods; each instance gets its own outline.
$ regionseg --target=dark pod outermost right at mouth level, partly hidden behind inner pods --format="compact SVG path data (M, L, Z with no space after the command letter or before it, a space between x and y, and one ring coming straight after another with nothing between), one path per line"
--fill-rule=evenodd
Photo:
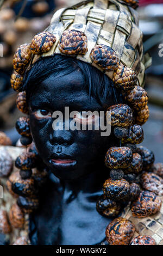
M139 153L143 160L143 170L148 170L154 163L154 154L151 150L143 146L137 146L137 153Z

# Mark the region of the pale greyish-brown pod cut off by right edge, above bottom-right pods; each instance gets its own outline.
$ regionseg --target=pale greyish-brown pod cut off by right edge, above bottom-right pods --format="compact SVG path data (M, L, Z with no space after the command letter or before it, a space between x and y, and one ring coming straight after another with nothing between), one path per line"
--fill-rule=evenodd
M155 173L143 173L140 179L141 185L144 190L154 192L155 194L161 194L163 179Z

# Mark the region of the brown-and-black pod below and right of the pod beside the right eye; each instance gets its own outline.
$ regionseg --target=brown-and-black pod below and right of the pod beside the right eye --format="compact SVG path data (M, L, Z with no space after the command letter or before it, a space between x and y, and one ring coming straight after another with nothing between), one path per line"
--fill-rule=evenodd
M144 132L140 125L132 125L129 127L128 136L122 139L123 143L140 144L143 142Z

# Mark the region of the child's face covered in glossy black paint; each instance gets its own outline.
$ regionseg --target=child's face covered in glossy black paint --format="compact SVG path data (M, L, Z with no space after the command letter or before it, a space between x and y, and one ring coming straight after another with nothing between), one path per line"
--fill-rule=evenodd
M52 74L30 96L29 117L34 143L42 160L60 179L78 179L98 168L102 172L106 150L115 144L111 136L101 137L101 130L53 130L52 113L64 113L65 106L70 107L70 112L104 111L95 97L90 99L84 86L79 71L60 77ZM106 104L110 106L111 99L104 102L104 106ZM76 118L81 121L80 117ZM67 121L71 119L64 120L64 125Z

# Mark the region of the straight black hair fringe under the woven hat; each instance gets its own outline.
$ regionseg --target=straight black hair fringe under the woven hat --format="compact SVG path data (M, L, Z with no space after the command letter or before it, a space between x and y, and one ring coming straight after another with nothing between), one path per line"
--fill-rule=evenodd
M74 57L62 56L61 54L41 57L37 60L32 69L24 75L22 90L26 90L27 100L29 100L34 88L39 86L51 74L55 73L56 75L64 76L77 69L83 74L85 88L90 97L95 96L99 103L104 102L107 97L111 97L113 104L122 102L120 90L114 87L112 80L108 76L90 64Z

